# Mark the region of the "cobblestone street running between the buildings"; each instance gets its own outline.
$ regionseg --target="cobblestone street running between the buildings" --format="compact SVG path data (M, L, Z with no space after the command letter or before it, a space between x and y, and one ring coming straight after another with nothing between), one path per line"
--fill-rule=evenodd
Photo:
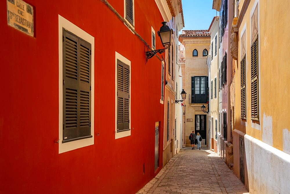
M186 148L138 193L248 193L224 161L209 150Z

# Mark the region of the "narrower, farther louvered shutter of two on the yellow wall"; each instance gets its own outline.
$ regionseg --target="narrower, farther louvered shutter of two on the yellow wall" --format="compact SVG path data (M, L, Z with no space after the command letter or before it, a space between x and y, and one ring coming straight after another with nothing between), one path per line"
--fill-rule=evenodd
M247 118L246 107L246 55L241 60L241 118Z

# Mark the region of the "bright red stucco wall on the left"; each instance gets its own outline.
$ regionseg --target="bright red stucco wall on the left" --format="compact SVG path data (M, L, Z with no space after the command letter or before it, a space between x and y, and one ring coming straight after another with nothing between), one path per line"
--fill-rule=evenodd
M160 134L164 123L161 61L153 57L145 64L144 43L100 0L26 2L35 7L35 37L8 26L6 1L0 2L0 193L135 193L155 176L155 121L161 121ZM123 0L109 3L124 16ZM58 15L95 37L94 132L99 133L94 145L61 154L54 143ZM135 30L149 45L151 26L159 30L162 21L154 0L135 0ZM157 37L156 45L161 48ZM115 51L131 61L131 136L116 140Z

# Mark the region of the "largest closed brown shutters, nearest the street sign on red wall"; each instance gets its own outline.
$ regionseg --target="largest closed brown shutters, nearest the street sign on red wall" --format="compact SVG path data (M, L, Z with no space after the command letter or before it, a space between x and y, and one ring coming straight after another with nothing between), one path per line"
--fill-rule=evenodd
M91 134L91 44L63 28L63 140Z

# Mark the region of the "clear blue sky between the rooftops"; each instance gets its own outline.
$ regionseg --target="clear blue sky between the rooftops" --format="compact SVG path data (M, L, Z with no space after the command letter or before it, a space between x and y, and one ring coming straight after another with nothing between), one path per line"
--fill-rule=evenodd
M213 0L182 0L183 30L207 30L219 12L212 9Z

